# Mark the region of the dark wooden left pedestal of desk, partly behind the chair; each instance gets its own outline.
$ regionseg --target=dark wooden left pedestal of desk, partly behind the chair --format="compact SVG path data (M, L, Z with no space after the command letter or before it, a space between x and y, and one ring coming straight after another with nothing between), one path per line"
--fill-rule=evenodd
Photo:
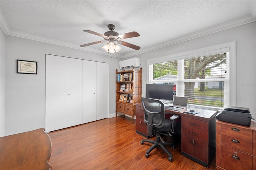
M144 109L141 103L137 103L135 107L136 112L136 133L148 138L147 126L144 122Z

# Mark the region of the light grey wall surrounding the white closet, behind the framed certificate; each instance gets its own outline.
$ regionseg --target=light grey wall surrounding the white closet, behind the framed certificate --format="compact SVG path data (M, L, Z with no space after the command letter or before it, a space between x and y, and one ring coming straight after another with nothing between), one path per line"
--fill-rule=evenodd
M5 52L5 135L45 128L45 53L109 63L109 115L115 116L120 58L7 35ZM17 74L17 59L37 61L38 74Z

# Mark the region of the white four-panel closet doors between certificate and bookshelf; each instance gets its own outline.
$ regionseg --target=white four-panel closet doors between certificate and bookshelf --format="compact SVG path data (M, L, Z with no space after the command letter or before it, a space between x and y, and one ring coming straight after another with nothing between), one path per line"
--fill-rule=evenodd
M46 54L46 132L108 117L108 64Z

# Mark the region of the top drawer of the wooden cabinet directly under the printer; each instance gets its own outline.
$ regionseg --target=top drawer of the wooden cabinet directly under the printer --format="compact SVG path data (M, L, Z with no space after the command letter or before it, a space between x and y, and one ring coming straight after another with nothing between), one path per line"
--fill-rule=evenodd
M221 134L224 134L226 136L232 136L233 138L246 140L248 142L252 142L252 130L222 124Z

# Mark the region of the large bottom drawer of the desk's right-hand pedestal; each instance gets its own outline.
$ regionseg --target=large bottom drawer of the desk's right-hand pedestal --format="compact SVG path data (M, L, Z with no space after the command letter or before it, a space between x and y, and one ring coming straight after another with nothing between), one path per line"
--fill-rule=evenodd
M182 134L181 151L195 158L208 162L208 143Z

